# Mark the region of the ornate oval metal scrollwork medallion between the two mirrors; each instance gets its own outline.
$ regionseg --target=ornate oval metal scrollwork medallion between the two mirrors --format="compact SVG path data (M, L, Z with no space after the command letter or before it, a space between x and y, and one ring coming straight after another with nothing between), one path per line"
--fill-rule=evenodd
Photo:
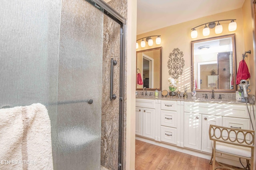
M180 51L178 48L173 49L172 53L169 55L169 60L168 60L168 68L169 70L169 75L172 75L172 78L178 79L180 75L182 75L183 70L185 66L185 61L183 59L183 52Z

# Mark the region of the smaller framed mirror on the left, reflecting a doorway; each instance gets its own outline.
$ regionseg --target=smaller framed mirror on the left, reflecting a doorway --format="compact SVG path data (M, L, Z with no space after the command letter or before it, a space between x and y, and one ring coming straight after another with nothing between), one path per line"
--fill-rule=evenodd
M161 90L162 47L136 52L136 90Z

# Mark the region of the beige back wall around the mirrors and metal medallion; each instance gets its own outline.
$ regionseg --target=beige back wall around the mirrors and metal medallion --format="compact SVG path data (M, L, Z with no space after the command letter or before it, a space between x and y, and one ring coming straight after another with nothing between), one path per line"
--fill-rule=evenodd
M248 9L250 10L250 9ZM202 27L198 27L198 37L195 39L192 39L190 37L191 28L196 27L197 25L201 25L202 23L207 23L210 21L216 21L216 20L226 20L226 19L236 19L237 23L237 29L236 31L228 31L228 24L230 21L223 21L221 22L223 26L223 32L220 34L215 34L214 29L210 29L210 35L204 37L202 35ZM161 35L162 42L160 45L156 45L154 43L153 46L149 47L146 43L146 47L142 48L139 45L139 48L137 51L144 50L144 49L150 49L155 47L163 47L162 49L162 90L168 90L168 78L170 77L168 73L168 67L167 62L169 59L170 53L172 53L172 50L174 48L179 48L180 51L184 54L184 60L185 60L185 66L184 66L184 72L178 79L178 89L183 92L182 86L184 85L190 85L191 86L191 41L198 40L198 39L204 39L209 37L216 37L220 35L227 35L236 33L236 54L237 54L237 66L239 62L242 59L242 54L244 53L244 21L243 21L243 11L242 8L231 10L228 12L222 12L219 14L206 16L203 18L199 18L196 20L187 21L184 23L172 25L169 27L164 27L162 29L157 29L154 31L150 31L148 33L143 33L140 35L137 35L137 39L140 39L142 37L150 36L150 35ZM153 39L155 41L155 39ZM140 44L140 42L138 42ZM253 83L253 82L251 82ZM254 85L252 85L254 86ZM191 92L191 89L188 90L188 92Z

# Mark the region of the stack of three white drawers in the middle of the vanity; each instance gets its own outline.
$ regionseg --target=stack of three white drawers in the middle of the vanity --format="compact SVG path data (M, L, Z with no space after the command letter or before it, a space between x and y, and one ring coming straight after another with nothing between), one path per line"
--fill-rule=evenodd
M177 145L177 102L161 100L160 141Z

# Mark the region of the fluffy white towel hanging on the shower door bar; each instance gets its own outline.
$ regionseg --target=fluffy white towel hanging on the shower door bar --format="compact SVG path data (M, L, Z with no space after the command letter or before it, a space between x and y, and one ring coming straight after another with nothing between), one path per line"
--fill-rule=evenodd
M44 105L0 109L0 169L53 170L51 125Z

